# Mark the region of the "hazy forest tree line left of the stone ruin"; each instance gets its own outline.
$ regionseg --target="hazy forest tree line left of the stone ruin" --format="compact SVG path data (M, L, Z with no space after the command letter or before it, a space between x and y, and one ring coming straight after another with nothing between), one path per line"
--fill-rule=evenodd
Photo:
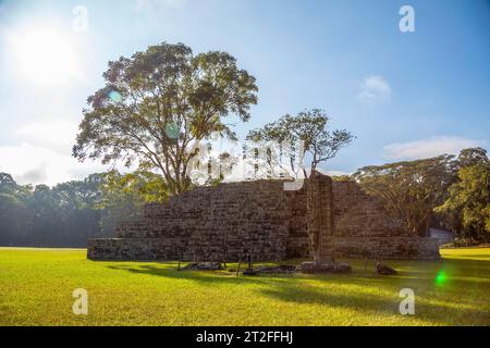
M164 200L162 187L148 172L96 173L53 187L0 173L0 245L85 248L87 238L111 236L123 217L138 216L144 202Z

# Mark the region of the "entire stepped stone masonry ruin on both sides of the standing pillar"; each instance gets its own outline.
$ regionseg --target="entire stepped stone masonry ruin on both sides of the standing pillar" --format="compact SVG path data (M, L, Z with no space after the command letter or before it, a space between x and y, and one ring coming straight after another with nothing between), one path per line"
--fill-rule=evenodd
M439 259L432 238L409 236L376 198L354 182L333 182L336 257ZM144 217L124 222L117 238L89 239L93 260L237 261L308 258L306 189L280 181L199 187L166 204L147 204Z

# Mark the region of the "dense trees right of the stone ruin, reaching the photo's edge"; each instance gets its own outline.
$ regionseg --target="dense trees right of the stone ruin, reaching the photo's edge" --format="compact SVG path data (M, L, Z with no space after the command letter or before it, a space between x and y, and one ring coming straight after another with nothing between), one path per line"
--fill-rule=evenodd
M453 232L460 246L490 241L490 162L482 148L369 165L352 178L403 219L413 235L428 236L436 226Z

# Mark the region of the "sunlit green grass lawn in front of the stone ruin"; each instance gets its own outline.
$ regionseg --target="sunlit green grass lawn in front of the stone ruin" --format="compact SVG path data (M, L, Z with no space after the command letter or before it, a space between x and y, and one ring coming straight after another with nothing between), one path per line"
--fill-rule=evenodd
M442 254L388 262L400 271L390 277L362 260L346 275L236 277L0 248L0 325L490 325L490 249ZM75 288L88 291L88 315L72 312ZM399 312L402 288L415 291L415 315Z

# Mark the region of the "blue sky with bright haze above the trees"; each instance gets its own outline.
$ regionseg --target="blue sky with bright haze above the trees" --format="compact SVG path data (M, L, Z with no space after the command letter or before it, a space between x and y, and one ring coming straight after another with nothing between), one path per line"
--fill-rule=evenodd
M404 4L414 33L399 28ZM86 30L73 28L77 5ZM46 37L61 42L59 61ZM103 170L70 157L85 100L109 60L161 41L228 51L257 78L241 135L324 109L357 136L326 171L489 146L489 1L0 0L0 171L56 184ZM48 84L53 61L65 74Z

